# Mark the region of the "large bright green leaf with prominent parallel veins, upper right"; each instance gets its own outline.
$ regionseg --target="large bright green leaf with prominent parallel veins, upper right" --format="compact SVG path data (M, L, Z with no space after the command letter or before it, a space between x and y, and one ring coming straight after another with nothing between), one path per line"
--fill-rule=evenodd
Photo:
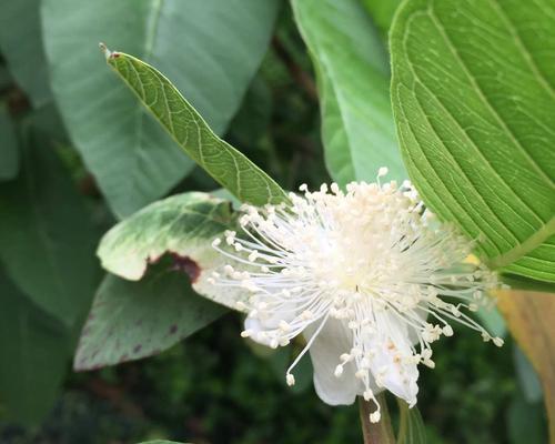
M529 23L534 23L533 29ZM492 268L555 282L555 6L406 1L391 32L403 157Z

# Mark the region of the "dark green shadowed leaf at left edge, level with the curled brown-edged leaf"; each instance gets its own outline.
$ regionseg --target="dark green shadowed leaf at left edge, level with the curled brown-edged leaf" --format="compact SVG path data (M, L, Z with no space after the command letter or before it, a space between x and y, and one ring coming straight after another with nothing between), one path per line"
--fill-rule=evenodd
M72 325L97 285L97 234L52 148L30 131L21 152L19 178L0 186L0 261L40 309Z

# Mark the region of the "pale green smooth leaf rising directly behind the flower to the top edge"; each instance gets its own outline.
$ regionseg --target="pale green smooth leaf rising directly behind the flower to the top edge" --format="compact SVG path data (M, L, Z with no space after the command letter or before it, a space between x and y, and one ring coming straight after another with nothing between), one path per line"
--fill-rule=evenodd
M316 70L325 162L344 185L406 173L395 138L387 53L356 0L293 0L293 11Z

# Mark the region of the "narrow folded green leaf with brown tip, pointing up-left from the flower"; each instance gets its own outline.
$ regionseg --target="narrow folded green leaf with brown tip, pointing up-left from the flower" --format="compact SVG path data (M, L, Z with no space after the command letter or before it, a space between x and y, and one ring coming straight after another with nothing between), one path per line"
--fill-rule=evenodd
M242 202L280 203L284 191L241 152L218 138L173 84L151 65L104 49L108 63L180 147Z

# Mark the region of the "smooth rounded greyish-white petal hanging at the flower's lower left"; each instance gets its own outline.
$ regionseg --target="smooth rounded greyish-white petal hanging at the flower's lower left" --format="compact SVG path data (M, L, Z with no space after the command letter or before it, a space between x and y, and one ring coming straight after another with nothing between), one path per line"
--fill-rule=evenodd
M306 340L312 336L317 325L316 322L304 330ZM334 374L335 367L341 363L340 356L349 353L352 347L351 331L342 321L330 317L310 349L314 367L314 387L326 404L352 404L356 395L364 391L360 380L354 376L353 363L344 366L340 377Z

